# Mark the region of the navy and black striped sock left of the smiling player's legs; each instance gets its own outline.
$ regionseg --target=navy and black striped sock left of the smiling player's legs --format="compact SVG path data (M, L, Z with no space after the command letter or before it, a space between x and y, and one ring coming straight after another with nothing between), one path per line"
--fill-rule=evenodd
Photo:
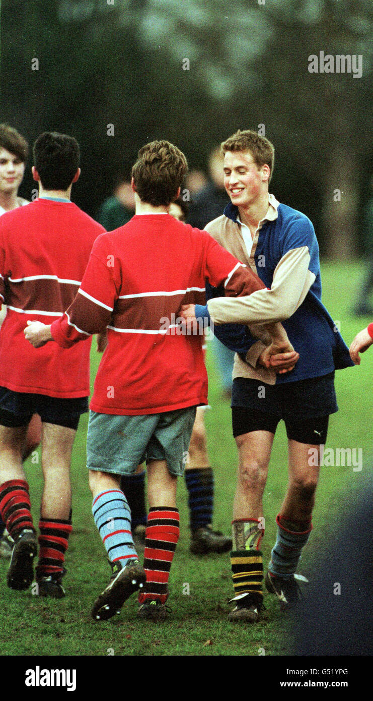
M185 470L185 482L188 489L189 525L192 531L197 531L203 526L211 525L213 521L213 470Z

